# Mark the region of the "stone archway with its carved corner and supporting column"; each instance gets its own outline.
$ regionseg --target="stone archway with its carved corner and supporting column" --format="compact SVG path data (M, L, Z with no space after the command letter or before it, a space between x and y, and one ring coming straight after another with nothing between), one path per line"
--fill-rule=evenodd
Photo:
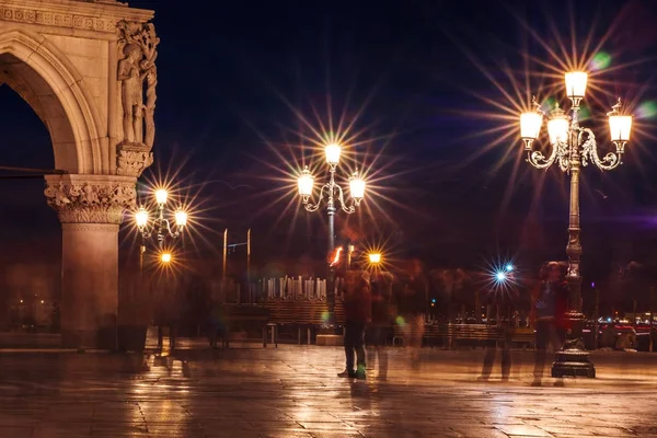
M152 16L112 0L0 0L0 83L44 122L64 171L45 195L62 227L66 347L117 345L118 228L152 163Z

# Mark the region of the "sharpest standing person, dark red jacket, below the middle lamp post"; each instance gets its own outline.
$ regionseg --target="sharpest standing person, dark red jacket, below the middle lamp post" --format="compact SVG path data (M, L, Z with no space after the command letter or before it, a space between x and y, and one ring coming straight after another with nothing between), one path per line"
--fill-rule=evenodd
M345 278L345 358L347 366L338 377L365 379L365 327L371 321L372 299L367 270L350 270ZM356 353L356 355L354 355ZM356 356L357 368L354 368Z

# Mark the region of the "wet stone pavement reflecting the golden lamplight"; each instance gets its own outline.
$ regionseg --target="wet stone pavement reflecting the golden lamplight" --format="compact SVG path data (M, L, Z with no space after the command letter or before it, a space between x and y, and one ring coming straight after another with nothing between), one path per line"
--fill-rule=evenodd
M565 388L531 388L530 353L504 383L476 381L482 350L407 357L351 381L334 347L0 351L0 437L657 437L657 355L596 354Z

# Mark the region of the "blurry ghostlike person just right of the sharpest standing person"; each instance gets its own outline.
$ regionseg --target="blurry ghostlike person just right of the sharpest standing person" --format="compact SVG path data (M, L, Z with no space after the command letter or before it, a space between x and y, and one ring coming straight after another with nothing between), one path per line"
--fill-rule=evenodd
M394 323L392 310L392 276L385 273L374 274L371 281L372 322L367 330L368 362L370 367L378 360L380 379L388 377L388 334Z

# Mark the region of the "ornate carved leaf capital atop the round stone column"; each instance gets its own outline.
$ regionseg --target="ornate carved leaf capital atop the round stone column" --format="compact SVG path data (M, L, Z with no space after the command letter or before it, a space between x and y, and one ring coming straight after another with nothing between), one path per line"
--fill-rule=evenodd
M61 223L120 224L135 208L136 184L131 176L47 175L44 193Z

